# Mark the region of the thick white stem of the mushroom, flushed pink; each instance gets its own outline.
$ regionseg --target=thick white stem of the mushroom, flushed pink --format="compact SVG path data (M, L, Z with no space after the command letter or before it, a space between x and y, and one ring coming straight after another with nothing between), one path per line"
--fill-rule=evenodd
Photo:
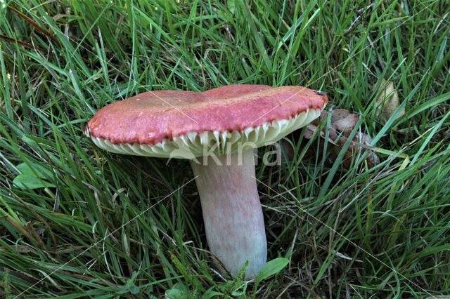
M253 151L191 160L210 251L235 277L248 260L246 278L266 263L264 218Z

